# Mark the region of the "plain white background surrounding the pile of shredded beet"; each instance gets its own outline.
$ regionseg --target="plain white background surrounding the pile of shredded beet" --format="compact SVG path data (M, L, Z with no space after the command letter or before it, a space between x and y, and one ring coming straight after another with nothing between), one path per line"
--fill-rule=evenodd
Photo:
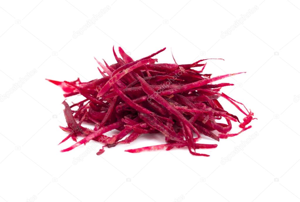
M73 38L107 6L94 25ZM1 1L0 95L9 98L0 102L0 202L299 201L299 8L296 0ZM94 142L60 153L73 141L57 146L67 135L58 128L65 125L64 97L45 78L98 78L93 57L114 63L113 45L134 59L163 47L159 62L172 62L171 48L178 63L225 59L208 61L205 73L247 71L226 79L236 85L223 92L258 120L241 135L220 140L216 149L201 151L210 157L192 156L187 149L124 152L162 143L159 134L101 156L95 154L101 145ZM21 87L10 90L34 69ZM67 101L75 98L81 99ZM255 132L242 151L233 152ZM205 137L201 142L215 143ZM88 148L93 151L85 155ZM222 163L225 157L231 160Z

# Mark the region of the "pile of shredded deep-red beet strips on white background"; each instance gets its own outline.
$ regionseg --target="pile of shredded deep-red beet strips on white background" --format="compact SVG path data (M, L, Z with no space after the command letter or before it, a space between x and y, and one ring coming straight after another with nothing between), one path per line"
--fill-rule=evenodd
M200 63L206 59L178 65L173 57L174 64L157 63L157 59L152 57L165 49L134 60L121 47L119 58L113 48L117 63L108 65L104 61L104 65L96 59L101 67L98 70L102 78L89 82L81 82L79 79L71 82L49 80L64 90L64 97L85 97L71 106L65 101L62 103L67 127L60 128L69 134L61 143L69 138L76 143L61 152L95 140L104 144L97 152L100 155L105 147L131 143L141 134L160 132L165 136L165 144L125 151L138 153L186 146L193 155L209 156L197 153L196 149L215 148L217 144L197 143L201 134L219 141L219 138L233 137L251 128L250 125L247 126L253 119L251 110L248 111L242 103L220 92L222 87L233 84L212 84L244 72L217 77L202 74L206 63ZM228 100L245 115L242 122L237 116L224 110L217 100L220 97ZM95 125L94 129L83 127L84 122ZM231 122L239 123L241 130L238 133L229 133ZM114 129L119 132L112 137L104 135ZM77 142L78 136L84 138Z

